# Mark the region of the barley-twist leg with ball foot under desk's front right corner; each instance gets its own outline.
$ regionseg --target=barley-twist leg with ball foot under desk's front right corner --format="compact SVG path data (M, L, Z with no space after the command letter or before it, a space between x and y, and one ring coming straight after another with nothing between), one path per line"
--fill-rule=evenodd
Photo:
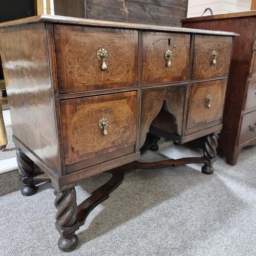
M216 135L207 135L205 137L205 143L204 143L204 157L208 160L214 159L217 156L216 148L218 146L218 140L219 136ZM204 174L213 174L214 173L214 167L212 167L213 163L204 164L202 167L202 173Z

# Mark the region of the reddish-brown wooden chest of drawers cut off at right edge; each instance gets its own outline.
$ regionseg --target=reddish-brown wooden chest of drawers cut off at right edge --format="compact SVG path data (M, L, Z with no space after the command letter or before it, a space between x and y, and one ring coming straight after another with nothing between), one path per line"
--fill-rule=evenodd
M256 11L185 18L181 22L185 28L240 34L234 42L219 138L227 163L235 165L243 147L256 145Z

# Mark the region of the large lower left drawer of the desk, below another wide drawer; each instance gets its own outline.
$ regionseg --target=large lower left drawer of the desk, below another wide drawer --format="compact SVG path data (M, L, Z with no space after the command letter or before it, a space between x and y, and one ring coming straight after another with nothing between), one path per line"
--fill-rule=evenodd
M66 165L87 159L95 165L135 152L137 92L61 100L60 105Z

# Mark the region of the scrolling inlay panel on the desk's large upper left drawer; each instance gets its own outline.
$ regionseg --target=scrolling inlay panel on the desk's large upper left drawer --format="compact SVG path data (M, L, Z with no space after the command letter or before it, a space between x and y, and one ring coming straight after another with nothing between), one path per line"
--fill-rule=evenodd
M101 70L102 62L97 58L100 48L108 51L105 71ZM126 36L89 37L77 33L65 49L66 70L78 86L84 83L129 80L133 62L133 50Z

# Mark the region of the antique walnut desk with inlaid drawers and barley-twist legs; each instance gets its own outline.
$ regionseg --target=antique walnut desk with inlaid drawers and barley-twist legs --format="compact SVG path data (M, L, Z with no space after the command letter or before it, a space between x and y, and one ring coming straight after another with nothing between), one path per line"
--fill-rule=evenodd
M236 34L43 15L0 35L22 194L36 192L35 163L55 188L61 250L125 172L195 162L214 172ZM150 129L178 143L206 136L204 156L140 163ZM111 180L77 206L76 182L105 171Z

